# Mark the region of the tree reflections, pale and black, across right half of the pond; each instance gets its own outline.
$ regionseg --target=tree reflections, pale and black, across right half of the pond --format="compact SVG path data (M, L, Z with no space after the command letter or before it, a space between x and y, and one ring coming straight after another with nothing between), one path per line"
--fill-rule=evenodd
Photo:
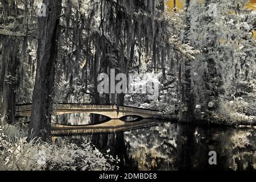
M126 132L125 140L139 169L255 169L255 130L162 123ZM208 163L211 150L217 165Z

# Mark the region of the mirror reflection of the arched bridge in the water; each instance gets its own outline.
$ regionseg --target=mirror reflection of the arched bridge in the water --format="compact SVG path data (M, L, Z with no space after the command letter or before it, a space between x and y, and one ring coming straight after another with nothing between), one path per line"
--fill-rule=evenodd
M150 121L148 119L142 119L142 121L137 122L123 122L119 119L112 119L105 123L89 126L67 126L53 124L52 136L57 137L63 135L118 133L151 126L158 126L158 124L155 121Z

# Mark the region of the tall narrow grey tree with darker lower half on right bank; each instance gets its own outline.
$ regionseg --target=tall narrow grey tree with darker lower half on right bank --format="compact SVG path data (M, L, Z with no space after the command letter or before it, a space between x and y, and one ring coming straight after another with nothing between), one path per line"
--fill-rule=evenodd
M191 34L189 39L192 45L201 49L201 54L196 56L197 63L192 71L197 95L197 105L204 112L217 111L220 97L224 94L223 81L220 68L220 56L218 56L218 16L210 14L214 1L192 1L191 7Z

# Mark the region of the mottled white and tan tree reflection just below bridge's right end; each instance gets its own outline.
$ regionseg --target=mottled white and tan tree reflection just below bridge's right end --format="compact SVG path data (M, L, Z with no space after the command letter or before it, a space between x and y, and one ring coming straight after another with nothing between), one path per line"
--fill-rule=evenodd
M175 168L177 127L171 123L125 133L130 143L129 154L138 161L138 168L170 170Z

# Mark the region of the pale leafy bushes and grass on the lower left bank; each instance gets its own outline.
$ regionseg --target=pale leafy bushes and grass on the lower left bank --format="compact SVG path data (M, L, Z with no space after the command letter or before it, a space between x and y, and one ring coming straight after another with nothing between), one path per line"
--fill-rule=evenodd
M91 143L44 143L39 139L26 142L23 131L15 126L0 126L0 170L114 170L118 160L102 154ZM20 134L11 139L6 134ZM17 136L16 135L16 136Z

